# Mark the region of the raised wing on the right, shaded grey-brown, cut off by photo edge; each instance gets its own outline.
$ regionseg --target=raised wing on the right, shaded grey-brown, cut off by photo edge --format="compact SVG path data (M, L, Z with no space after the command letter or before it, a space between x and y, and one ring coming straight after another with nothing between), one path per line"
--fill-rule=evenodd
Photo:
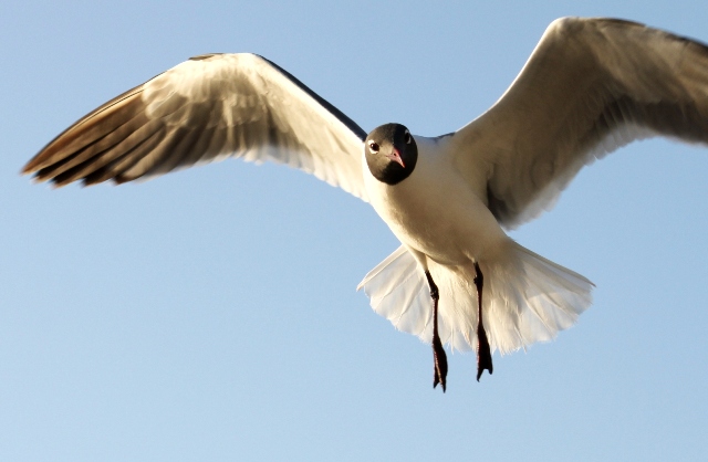
M708 143L708 48L634 22L565 18L451 141L509 229L551 208L584 165L656 135Z

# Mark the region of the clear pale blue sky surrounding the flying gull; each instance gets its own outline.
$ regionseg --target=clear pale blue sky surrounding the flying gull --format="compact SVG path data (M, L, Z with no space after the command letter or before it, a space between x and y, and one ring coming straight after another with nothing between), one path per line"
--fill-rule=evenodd
M439 135L563 15L708 41L705 1L0 3L0 460L706 460L708 149L634 144L513 232L594 305L527 353L449 356L356 284L397 242L279 166L51 190L18 175L75 119L183 60L260 53L364 129Z

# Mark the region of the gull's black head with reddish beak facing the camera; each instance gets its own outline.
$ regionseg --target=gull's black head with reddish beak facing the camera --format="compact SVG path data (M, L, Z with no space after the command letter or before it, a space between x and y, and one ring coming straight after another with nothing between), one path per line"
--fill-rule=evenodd
M418 146L408 128L400 124L382 125L364 141L366 164L374 178L386 185L397 185L416 168Z

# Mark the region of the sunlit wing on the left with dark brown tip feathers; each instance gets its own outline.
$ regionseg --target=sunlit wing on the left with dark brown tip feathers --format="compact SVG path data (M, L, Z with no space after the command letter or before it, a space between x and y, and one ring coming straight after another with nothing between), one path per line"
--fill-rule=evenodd
M270 61L196 56L110 101L23 172L56 186L131 181L228 156L299 168L366 199L366 133Z

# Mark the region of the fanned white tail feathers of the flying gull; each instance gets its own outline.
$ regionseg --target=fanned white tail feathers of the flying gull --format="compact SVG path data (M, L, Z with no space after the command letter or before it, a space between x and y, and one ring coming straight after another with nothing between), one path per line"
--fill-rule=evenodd
M479 262L485 274L482 309L492 351L514 351L553 339L575 324L592 303L593 283L509 241L494 261ZM477 290L471 265L428 261L440 291L439 334L454 349L477 348ZM399 330L430 343L433 303L423 270L402 245L360 283L376 313Z

